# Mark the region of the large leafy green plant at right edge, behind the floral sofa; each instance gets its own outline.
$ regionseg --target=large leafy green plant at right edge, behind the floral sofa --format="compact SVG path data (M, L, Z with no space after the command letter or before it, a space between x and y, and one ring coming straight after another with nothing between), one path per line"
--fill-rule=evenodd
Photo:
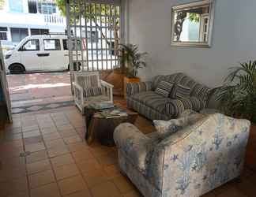
M256 123L256 61L231 68L224 85L214 88L210 95L216 95L224 113Z

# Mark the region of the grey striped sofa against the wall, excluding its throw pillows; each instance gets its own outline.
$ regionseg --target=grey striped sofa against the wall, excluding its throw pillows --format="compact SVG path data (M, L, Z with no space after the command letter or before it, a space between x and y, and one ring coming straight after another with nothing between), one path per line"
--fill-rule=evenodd
M183 99L165 98L155 90L161 81L190 87L190 97ZM200 111L205 108L209 87L198 84L189 76L179 72L168 76L155 76L152 81L130 83L126 86L127 107L136 110L150 120L169 120L184 110Z

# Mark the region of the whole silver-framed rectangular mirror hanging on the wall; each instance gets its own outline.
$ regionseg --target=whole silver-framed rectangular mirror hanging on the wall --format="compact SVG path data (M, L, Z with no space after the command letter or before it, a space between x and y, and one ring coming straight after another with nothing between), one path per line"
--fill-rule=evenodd
M171 45L211 46L214 0L203 0L174 6L171 9L171 15Z

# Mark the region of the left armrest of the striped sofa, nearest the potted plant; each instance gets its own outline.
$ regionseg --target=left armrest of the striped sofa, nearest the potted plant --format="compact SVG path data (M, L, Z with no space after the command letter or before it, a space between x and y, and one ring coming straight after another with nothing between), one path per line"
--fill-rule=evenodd
M152 91L152 82L138 82L138 83L128 83L126 84L126 95L136 95L143 91Z

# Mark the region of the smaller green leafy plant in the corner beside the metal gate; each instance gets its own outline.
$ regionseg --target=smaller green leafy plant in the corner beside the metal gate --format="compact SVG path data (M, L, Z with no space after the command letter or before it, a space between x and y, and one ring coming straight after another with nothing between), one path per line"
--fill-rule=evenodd
M137 70L146 66L142 58L147 53L140 53L138 46L134 44L120 44L119 46L121 68L126 68L126 76L130 78L136 77Z

